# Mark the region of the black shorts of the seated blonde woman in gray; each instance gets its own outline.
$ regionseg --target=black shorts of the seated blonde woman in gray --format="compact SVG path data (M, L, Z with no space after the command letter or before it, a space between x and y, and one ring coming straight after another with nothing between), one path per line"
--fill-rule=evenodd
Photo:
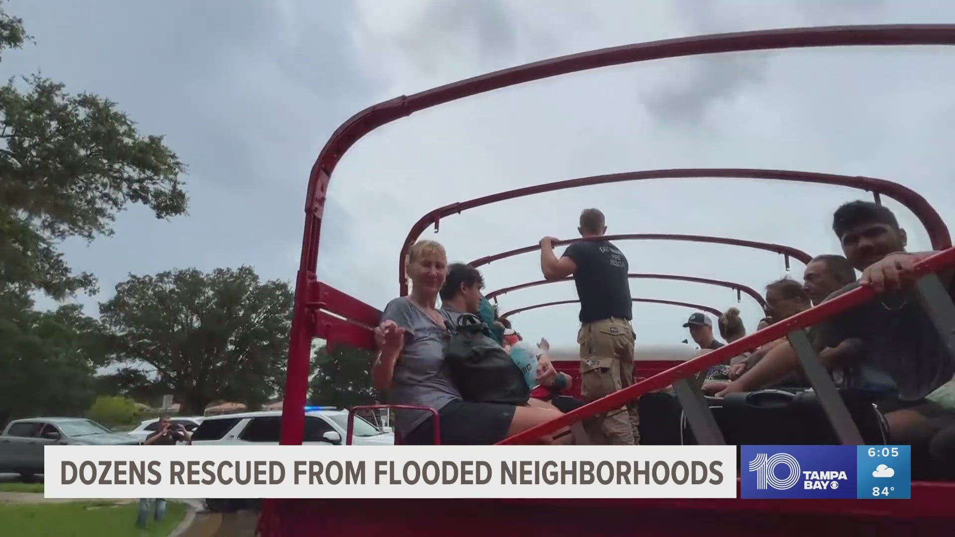
M514 405L453 400L437 411L441 443L449 445L491 445L504 440L514 419ZM435 443L433 417L429 417L402 439L410 445Z

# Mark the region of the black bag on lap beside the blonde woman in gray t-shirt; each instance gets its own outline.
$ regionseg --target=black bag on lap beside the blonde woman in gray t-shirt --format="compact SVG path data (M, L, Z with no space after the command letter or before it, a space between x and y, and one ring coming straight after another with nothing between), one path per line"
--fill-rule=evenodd
M444 360L465 401L527 404L530 388L520 368L476 315L464 313L450 327Z

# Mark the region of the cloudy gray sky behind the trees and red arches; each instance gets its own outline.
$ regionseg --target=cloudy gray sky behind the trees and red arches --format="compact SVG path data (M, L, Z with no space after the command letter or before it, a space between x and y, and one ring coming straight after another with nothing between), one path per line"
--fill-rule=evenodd
M555 0L11 0L36 45L4 54L5 75L42 71L110 97L189 166L190 214L134 207L116 235L63 245L100 293L128 273L252 265L292 281L308 171L332 131L375 102L547 57L711 32L939 23L944 0L592 3ZM335 171L320 278L382 308L414 221L436 206L574 177L670 167L764 167L880 177L928 198L955 226L955 50L790 50L658 60L527 83L404 118L360 140ZM435 238L453 261L571 238L584 207L611 233L695 233L838 252L842 187L765 181L619 183L494 204L448 218ZM927 249L913 215L887 201ZM425 237L432 236L429 231ZM782 257L736 247L626 242L634 272L732 280L762 290ZM801 266L794 263L794 275ZM535 254L483 269L488 290L541 279ZM725 309L752 330L756 303L722 288L637 280L635 297ZM511 310L576 298L572 284L501 298ZM41 306L51 306L41 302ZM691 311L635 305L638 339L678 343ZM521 333L573 344L576 308L521 313Z

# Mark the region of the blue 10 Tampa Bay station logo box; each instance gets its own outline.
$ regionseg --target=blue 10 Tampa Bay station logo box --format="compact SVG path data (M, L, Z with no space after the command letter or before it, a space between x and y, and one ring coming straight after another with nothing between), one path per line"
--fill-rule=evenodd
M856 445L740 446L740 496L856 498Z

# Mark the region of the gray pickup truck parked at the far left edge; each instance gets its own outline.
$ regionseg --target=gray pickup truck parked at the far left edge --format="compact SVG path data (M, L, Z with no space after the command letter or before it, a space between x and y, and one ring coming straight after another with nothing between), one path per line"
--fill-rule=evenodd
M138 440L85 418L14 419L0 435L0 472L30 482L43 473L46 445L136 445Z

